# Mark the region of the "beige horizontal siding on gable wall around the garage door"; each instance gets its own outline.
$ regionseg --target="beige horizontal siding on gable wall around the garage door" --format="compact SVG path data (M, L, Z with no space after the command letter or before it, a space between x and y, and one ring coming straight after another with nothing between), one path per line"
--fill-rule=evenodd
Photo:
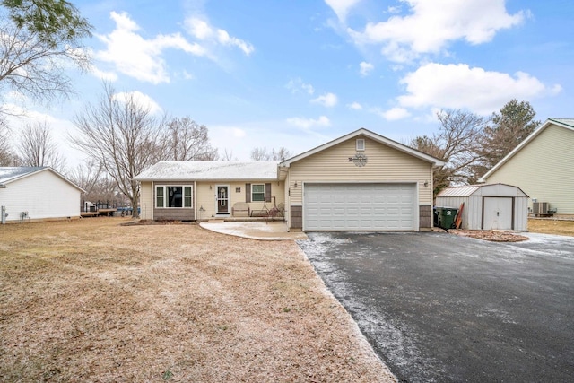
M291 164L288 178L291 205L302 205L301 186L304 182L414 182L419 185L419 205L431 205L432 177L429 162L367 137L357 138L365 139L363 153L368 161L363 167L349 161L357 153L355 137ZM429 182L428 187L423 186L425 181Z

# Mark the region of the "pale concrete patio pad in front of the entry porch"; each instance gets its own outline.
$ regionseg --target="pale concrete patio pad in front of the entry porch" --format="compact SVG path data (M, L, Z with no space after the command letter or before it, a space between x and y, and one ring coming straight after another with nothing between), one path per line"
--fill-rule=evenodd
M308 239L304 232L290 232L285 222L201 222L207 230L260 240Z

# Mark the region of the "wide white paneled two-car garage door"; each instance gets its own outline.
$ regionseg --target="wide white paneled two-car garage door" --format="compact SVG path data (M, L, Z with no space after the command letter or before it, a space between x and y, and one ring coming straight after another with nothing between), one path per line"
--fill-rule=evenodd
M415 231L414 184L305 184L304 231Z

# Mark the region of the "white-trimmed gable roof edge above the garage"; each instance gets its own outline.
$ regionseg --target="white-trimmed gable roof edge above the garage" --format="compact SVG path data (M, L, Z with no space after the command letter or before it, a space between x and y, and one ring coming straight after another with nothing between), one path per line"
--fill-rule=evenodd
M358 137L358 136L361 136L361 135L362 135L362 136L365 136L365 137L369 137L371 140L376 141L376 142L378 142L379 144L384 144L384 145L387 145L387 146L389 146L389 147L391 147L391 148L394 148L394 149L396 149L396 150L398 150L398 151L400 151L400 152L404 152L404 153L410 154L410 155L412 155L413 157L418 158L418 159L420 159L420 160L422 160L422 161L431 162L431 164L432 164L433 166L443 166L443 165L445 164L444 161L441 161L441 160L439 160L439 159L437 159L437 158L434 158L434 157L432 157L432 156L430 156L430 155L428 155L428 154L425 154L425 153L423 153L423 152L419 152L419 151L417 151L417 150L415 150L415 149L413 149L413 148L411 148L411 147L409 147L409 146L406 146L406 145L404 145L404 144L399 144L399 143L397 143L396 141L393 141L393 140L391 140L391 139L389 139L389 138L387 138L387 137L384 137L384 136L382 136L382 135L378 135L378 134L376 134L376 133L373 133L373 132L371 132L370 130L367 130L367 129L365 129L365 128L361 128L361 129L356 130L356 131L354 131L354 132L352 132L352 133L350 133L350 134L348 134L348 135L343 135L343 136L341 136L341 137L339 137L339 138L336 138L335 140L330 141L330 142L328 142L328 143L326 143L326 144L322 144L322 145L317 146L316 148L311 149L311 150L309 150L309 151L307 151L307 152L303 152L303 153L301 153L301 154L299 154L299 155L296 155L296 156L294 156L294 157L291 157L291 158L288 159L288 160L282 161L279 165L280 165L280 166L283 166L283 167L289 167L289 166L291 166L291 163L293 163L293 162L297 162L297 161L303 160L303 159L308 158L309 156L311 156L311 155L313 155L313 154L316 154L317 152L322 152L322 151L324 151L324 150L326 150L326 149L328 149L328 148L331 148L331 147L333 147L333 146L335 146L335 145L337 145L337 144L344 143L344 142L347 141L347 140L350 140L350 139L352 139L352 138L354 138L354 137Z

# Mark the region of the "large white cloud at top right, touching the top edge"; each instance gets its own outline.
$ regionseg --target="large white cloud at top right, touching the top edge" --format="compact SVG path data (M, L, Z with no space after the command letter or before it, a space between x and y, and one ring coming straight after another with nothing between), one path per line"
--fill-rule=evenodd
M527 12L509 14L504 0L403 0L410 14L386 22L368 22L364 30L347 31L357 44L382 44L381 52L396 62L424 53L439 53L448 43L490 41L497 31L524 21Z

